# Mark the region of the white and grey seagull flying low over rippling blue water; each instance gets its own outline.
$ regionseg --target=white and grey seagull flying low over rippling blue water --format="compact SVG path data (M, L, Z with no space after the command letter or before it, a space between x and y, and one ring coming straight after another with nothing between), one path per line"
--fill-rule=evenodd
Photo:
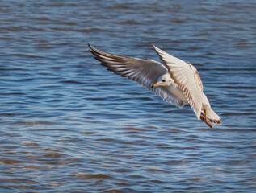
M163 64L149 59L138 59L112 55L100 51L87 43L94 59L107 70L136 81L157 96L179 108L188 103L198 120L210 124L221 124L220 117L212 110L196 68L189 62L154 47Z

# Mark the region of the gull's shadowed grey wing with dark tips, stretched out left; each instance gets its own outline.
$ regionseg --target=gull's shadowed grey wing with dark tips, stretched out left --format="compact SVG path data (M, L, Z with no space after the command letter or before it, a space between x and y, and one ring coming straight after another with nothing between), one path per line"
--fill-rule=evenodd
M178 107L183 107L183 101L179 100L171 92L163 87L154 87L158 78L168 72L167 68L153 60L142 60L130 57L123 57L120 55L112 55L104 51L100 51L95 47L90 47L90 52L95 56L94 59L99 60L101 65L107 67L107 70L114 72L122 77L127 77L130 80L136 81L148 88L157 96L162 97L162 99L170 102Z

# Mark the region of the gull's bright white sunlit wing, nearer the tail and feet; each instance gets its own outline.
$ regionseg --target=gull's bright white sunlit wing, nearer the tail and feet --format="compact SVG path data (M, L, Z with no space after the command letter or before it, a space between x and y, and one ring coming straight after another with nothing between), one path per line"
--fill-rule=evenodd
M183 90L183 93L194 110L196 117L200 119L203 84L199 73L191 64L169 55L166 51L162 51L155 46L154 48L157 51L157 55L159 55L161 60L166 64L170 77L176 84L178 84L178 87Z

